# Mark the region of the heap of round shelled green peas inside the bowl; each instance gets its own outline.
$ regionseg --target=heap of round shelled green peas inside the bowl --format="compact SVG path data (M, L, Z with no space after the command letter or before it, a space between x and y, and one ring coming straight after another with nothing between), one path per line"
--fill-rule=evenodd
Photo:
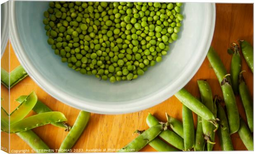
M182 3L50 2L48 44L68 67L110 82L136 79L178 38Z

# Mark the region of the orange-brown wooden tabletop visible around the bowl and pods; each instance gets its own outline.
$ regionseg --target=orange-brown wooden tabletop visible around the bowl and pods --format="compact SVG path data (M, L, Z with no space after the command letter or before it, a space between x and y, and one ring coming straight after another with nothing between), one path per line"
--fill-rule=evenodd
M227 49L232 41L237 39L245 39L251 44L253 43L253 5L252 4L216 4L216 25L215 32L213 36L212 46L216 49L223 61L226 69L230 70L231 55L227 53ZM191 51L193 52L193 51ZM7 53L7 52L5 52ZM5 54L6 58L8 55ZM2 67L3 66L2 59ZM12 47L10 47L10 71L19 65L19 61L14 54ZM249 87L251 96L253 94L253 74L249 70L244 58L242 57L242 70L245 70L244 78ZM191 92L194 96L199 97L199 89L197 87L197 79L207 79L211 85L213 95L222 96L222 92L214 74L213 69L211 69L209 61L207 58L204 60L200 69L190 80L190 82L185 86L185 88ZM1 97L6 97L7 90L1 85ZM10 110L14 110L19 103L14 100L20 95L29 94L34 90L38 96L38 99L43 101L47 106L49 106L54 111L60 111L66 115L68 119L68 124L73 124L76 120L79 110L72 108L57 99L51 97L45 91L43 91L36 83L27 77L22 80L19 84L12 87L10 90ZM2 106L7 108L7 99L2 102ZM237 106L239 108L239 113L245 120L244 108L239 97L236 98ZM114 151L113 149L118 149L128 144L136 135L133 132L136 129L144 130L148 129L146 124L146 117L148 113L152 113L159 120L166 121L165 113L182 120L181 114L182 104L175 98L171 97L166 101L146 110L140 112L123 114L123 115L100 115L92 113L90 122L83 132L81 138L79 138L74 149L82 149L83 152L86 150L93 149L107 149L108 152ZM31 112L30 115L34 113ZM194 115L194 124L196 126L197 116ZM42 138L47 145L52 149L58 149L65 138L67 132L64 129L52 126L50 124L45 126L40 126L33 129L40 138ZM7 137L6 133L1 133L2 139ZM236 150L246 150L242 141L240 140L237 133L232 134L232 143ZM31 148L21 140L16 134L10 135L10 149L30 149ZM108 150L109 149L109 150ZM221 150L218 137L216 137L216 145L214 150ZM147 145L141 151L154 152L155 150ZM10 151L12 152L12 151Z

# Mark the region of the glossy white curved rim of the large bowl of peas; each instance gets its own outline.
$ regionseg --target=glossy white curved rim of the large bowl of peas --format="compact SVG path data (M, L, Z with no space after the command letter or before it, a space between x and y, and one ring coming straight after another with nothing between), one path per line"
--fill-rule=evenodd
M206 41L203 45L199 47L200 54L196 57L194 62L187 67L187 70L184 71L182 76L180 76L179 80L176 80L172 86L166 87L166 89L161 90L157 94L152 95L146 99L138 99L132 101L125 101L127 105L117 105L117 104L104 104L104 106L99 104L93 104L88 101L83 101L74 97L69 97L67 93L58 90L58 88L52 86L47 80L39 74L39 72L33 67L30 63L28 57L26 57L25 50L21 45L21 40L18 36L17 32L17 24L15 21L15 1L10 2L10 39L12 42L12 47L14 49L14 53L16 54L19 62L24 67L25 71L28 75L33 79L36 84L42 88L45 92L50 94L55 99L72 106L74 108L78 108L80 110L86 110L92 113L100 113L100 114L124 114L124 113L133 113L140 110L145 110L152 106L155 106L166 99L170 98L178 92L181 88L183 88L196 74L199 67L203 63L209 47L211 45L211 41L213 38L213 32L215 28L215 20L216 20L216 7L215 3L207 3L206 8L208 12L208 17L206 18L206 25L209 25L209 30L204 34L206 37ZM103 103L103 101L97 101ZM138 106L138 104L140 104Z

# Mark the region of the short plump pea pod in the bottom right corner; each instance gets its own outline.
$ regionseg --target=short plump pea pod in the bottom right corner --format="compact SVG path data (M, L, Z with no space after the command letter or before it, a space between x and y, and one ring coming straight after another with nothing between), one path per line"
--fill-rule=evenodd
M242 120L242 118L240 118L240 128L239 128L238 134L239 134L241 140L243 141L245 147L248 150L253 151L254 150L254 139L253 139L250 129L247 127L247 125L245 124L244 120Z

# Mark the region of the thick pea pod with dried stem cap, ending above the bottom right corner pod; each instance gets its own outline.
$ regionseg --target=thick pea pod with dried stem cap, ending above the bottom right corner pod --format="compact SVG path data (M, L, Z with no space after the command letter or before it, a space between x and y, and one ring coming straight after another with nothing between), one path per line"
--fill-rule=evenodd
M221 89L223 92L223 98L227 108L230 134L232 134L237 132L239 129L239 113L238 113L237 103L235 100L235 94L226 78L224 78L221 83Z

